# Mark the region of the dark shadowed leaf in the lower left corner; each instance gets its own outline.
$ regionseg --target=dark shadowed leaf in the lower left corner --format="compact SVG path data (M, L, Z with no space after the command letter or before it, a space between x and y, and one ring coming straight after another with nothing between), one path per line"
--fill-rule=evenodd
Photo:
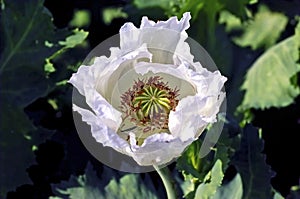
M51 134L40 128L27 136L0 133L0 198L17 186L31 183L26 169L35 160L33 150Z

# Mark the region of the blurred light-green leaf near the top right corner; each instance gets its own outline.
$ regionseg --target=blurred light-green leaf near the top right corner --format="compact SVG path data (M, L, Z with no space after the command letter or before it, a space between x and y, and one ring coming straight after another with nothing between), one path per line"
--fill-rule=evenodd
M233 38L233 41L242 47L251 46L253 50L269 48L276 43L287 22L288 18L284 14L260 6L254 20L245 27L243 35Z

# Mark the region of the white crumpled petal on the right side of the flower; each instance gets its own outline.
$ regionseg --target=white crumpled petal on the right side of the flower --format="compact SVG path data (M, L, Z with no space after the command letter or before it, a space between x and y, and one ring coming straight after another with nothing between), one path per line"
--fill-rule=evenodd
M177 69L197 89L196 95L181 99L176 110L169 114L171 134L185 141L197 138L209 123L216 121L216 114L225 98L221 89L226 78L218 71L212 73L199 65L195 67L197 71L191 70L190 63L180 61Z

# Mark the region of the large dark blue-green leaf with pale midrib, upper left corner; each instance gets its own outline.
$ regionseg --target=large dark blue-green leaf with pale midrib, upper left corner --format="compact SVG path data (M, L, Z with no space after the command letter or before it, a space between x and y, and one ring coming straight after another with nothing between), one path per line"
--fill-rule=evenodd
M46 95L54 86L45 77L45 58L56 48L45 46L55 42L63 34L57 33L51 15L42 0L8 1L1 13L1 40L4 48L0 53L0 102L3 115L15 115L38 97ZM18 109L18 110L16 110ZM24 115L11 120L1 116L1 133L30 130Z

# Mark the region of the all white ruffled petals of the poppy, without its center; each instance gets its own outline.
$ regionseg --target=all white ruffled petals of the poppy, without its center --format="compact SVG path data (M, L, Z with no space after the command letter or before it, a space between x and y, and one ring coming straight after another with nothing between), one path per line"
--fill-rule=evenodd
M98 57L91 66L81 66L69 81L90 107L87 110L73 105L91 126L96 141L131 156L139 165L162 165L180 156L208 124L216 121L224 100L221 89L226 78L194 63L189 45L184 42L190 18L185 13L179 21L172 17L155 23L144 17L140 28L126 23L120 29L120 48L111 48L110 57ZM193 88L170 112L169 129L147 137L142 145L136 144L132 132L129 140L117 134L122 113L111 103L114 85L130 70L137 76L171 75Z

